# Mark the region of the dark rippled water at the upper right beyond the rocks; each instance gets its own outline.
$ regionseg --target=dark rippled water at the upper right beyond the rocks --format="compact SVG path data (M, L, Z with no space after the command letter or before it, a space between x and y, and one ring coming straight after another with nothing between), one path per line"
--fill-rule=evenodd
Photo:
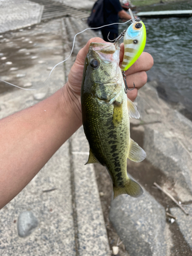
M192 3L154 5L141 11L174 9L192 9ZM143 22L147 33L144 51L154 58L148 79L157 81L159 95L192 119L192 17L143 19ZM126 28L120 25L119 31Z

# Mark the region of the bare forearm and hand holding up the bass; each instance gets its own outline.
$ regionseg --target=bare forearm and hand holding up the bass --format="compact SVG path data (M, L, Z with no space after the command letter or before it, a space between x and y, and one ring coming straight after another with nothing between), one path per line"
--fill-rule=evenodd
M63 88L38 104L0 120L0 208L13 199L39 172L58 148L80 127L80 87L84 59L92 38L82 48ZM123 58L123 47L121 56ZM152 67L152 57L144 53L132 66L127 84L134 100L137 89L146 82L145 71ZM126 72L126 74L128 74Z

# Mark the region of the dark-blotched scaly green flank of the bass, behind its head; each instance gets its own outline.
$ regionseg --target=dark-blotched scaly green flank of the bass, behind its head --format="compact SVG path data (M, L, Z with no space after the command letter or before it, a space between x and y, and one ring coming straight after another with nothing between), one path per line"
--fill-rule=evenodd
M117 116L114 121L114 105L108 103L100 104L99 99L92 95L84 102L86 111L92 112L91 118L86 120L86 135L89 138L90 148L96 159L104 166L107 166L113 183L122 186L126 181L126 173L121 170L126 169L126 159L128 147L122 146L122 141L129 143L129 113L127 111L126 95L123 90L123 107L127 113L124 119L122 106L116 106ZM92 104L95 107L92 107ZM128 131L128 132L127 132Z

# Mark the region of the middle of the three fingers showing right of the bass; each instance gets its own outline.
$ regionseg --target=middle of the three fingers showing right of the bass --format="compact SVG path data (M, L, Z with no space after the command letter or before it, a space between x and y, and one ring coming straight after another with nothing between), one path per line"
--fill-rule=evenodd
M146 82L147 82L147 74L145 71L140 71L132 75L126 76L126 83L129 89L134 88L134 84L137 89L140 89L141 87L144 86Z

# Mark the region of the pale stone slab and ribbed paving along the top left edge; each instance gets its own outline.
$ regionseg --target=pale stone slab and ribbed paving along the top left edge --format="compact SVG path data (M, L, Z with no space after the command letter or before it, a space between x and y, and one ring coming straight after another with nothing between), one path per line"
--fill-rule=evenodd
M87 18L87 11L91 11L94 2L95 0L0 0L0 33L38 24L41 19L66 16ZM57 6L56 3L60 5Z

